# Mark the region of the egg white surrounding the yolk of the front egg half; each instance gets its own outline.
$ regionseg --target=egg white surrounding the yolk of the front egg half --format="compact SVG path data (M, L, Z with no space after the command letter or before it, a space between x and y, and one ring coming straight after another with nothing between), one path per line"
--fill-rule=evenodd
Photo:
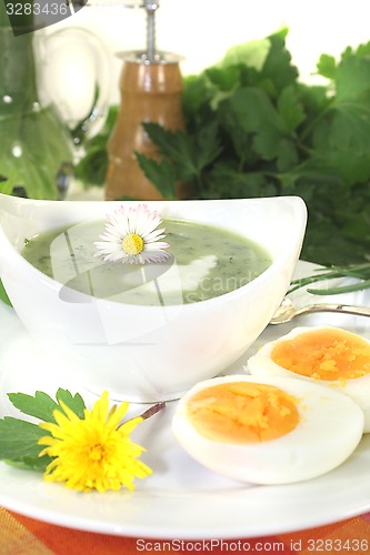
M200 390L227 382L274 385L298 398L300 421L274 440L233 444L200 434L187 415L189 398ZM200 382L179 402L172 432L200 464L222 476L251 484L288 484L310 480L343 463L363 431L363 413L348 396L296 379L232 375Z

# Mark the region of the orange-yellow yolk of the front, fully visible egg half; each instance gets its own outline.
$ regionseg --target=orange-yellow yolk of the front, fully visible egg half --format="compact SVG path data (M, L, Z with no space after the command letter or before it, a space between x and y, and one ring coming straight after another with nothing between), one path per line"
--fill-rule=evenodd
M206 387L187 403L187 416L204 437L260 443L291 432L299 422L294 398L279 387L250 382Z

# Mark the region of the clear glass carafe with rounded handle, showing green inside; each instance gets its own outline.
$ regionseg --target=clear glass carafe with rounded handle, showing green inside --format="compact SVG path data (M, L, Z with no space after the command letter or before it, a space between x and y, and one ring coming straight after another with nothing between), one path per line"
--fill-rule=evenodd
M77 125L68 104L79 87L78 74L66 74L66 103L51 99L44 85L44 69L52 67L63 81L63 64L53 56L76 42L90 57L94 75L87 94L83 121ZM74 43L73 42L73 43ZM14 36L10 27L0 27L0 188L11 180L13 194L33 199L63 198L81 157L83 141L103 124L108 110L110 60L100 41L89 31L66 28ZM56 79L54 79L56 81ZM67 99L66 99L67 100ZM64 105L63 105L64 104Z

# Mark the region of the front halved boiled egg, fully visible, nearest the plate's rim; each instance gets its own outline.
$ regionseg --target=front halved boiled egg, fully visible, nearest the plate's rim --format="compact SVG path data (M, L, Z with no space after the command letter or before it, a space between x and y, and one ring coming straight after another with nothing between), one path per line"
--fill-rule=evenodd
M288 484L336 468L359 444L363 413L350 397L292 377L200 382L179 402L172 431L200 464L252 484Z

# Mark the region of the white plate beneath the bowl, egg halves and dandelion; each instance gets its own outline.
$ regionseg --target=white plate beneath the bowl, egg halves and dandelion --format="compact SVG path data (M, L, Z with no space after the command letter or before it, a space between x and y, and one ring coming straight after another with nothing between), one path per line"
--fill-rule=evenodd
M314 266L299 263L298 275ZM310 296L310 299L308 299ZM324 302L304 291L299 304ZM330 297L333 300L332 297ZM347 302L369 304L369 293L347 294ZM339 300L337 296L336 301ZM79 391L87 403L93 397L78 386L58 361L31 340L11 309L0 303L0 416L19 413L7 393L36 390L54 395L58 387ZM293 324L268 326L253 347L228 373L243 372L248 356L266 341L296 325L329 324L370 337L370 319L321 314ZM170 422L176 402L143 422L133 440L146 446L143 461L153 475L137 482L134 492L79 494L42 475L0 463L0 505L48 523L106 534L151 538L256 537L314 527L370 511L370 434L339 468L308 482L284 486L248 486L207 471L174 442ZM132 407L140 413L142 407Z

